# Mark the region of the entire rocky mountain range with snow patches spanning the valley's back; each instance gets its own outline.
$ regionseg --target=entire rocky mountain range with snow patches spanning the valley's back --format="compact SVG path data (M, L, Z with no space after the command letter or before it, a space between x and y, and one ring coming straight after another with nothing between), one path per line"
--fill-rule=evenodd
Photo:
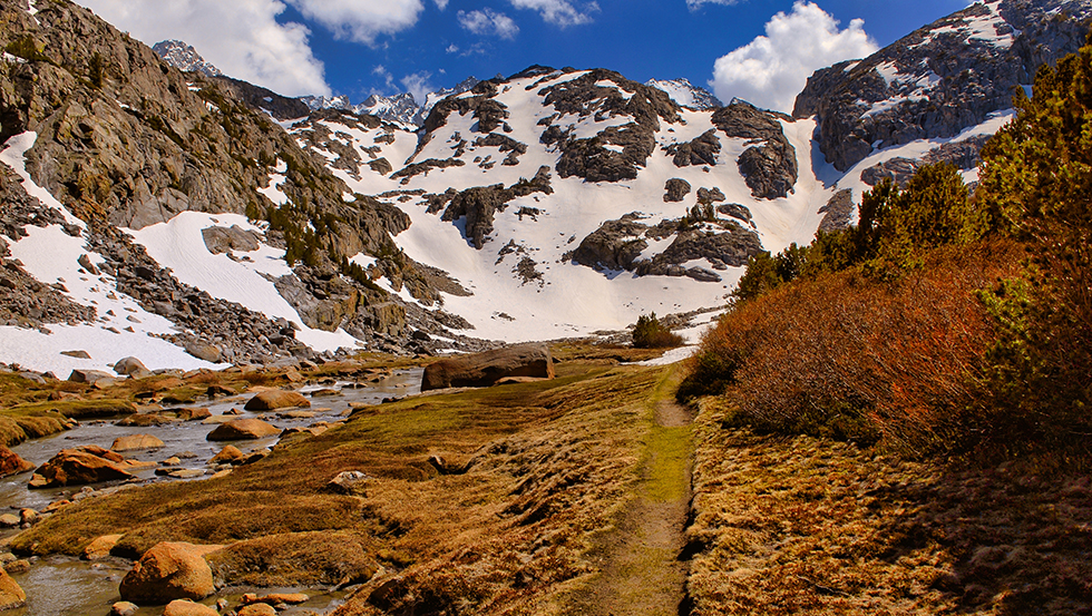
M0 63L33 84L0 101L0 361L61 370L436 352L721 306L749 255L849 224L879 177L943 159L975 179L1012 87L1080 46L1092 0L973 6L818 71L794 116L536 66L412 123L347 99L289 120L308 108L164 71L76 6L0 11L0 43L74 50ZM100 87L57 81L94 53ZM58 91L78 105L43 115Z

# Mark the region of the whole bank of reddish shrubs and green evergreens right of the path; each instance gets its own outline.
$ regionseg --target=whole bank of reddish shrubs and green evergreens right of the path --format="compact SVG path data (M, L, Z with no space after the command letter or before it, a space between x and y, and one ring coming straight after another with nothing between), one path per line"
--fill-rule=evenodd
M1092 39L1034 92L974 195L928 165L866 193L858 226L753 257L681 394L910 456L1086 454Z

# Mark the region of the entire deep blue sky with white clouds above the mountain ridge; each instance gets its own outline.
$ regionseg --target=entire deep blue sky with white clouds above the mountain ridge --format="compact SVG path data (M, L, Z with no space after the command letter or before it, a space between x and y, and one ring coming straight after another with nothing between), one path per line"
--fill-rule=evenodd
M185 40L228 75L290 96L348 95L360 102L373 92L408 90L419 97L470 75L507 76L540 63L604 67L640 81L685 77L721 98L741 96L782 108L786 101L791 106L791 94L816 68L866 55L968 4L966 0L78 1L148 45Z

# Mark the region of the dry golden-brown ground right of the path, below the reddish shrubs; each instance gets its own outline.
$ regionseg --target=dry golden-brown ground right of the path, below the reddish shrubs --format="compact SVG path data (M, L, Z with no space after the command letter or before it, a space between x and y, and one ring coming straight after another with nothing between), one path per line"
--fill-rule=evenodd
M695 431L692 614L1092 614L1086 473Z

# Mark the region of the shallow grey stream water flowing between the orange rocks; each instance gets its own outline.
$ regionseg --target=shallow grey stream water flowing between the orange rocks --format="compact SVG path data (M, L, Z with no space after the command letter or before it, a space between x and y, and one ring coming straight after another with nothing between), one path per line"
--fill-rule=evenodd
M261 418L277 428L305 428L319 421L338 421L349 410L350 403L374 404L386 398L400 398L408 394L419 393L422 370L398 371L389 378L376 383L350 383L339 382L337 384L319 384L300 389L301 393L318 393L319 390L339 390L334 394L315 394L311 397L311 412L313 418L285 419L277 417L276 412L252 413L242 411L238 419L253 417ZM243 404L250 394L224 398L209 401L208 404L188 404L187 407L201 405L207 408L213 415L225 414L233 410L242 410ZM165 409L169 410L169 409ZM205 437L216 428L216 424L203 423L202 421L181 421L164 426L152 427L120 427L116 426L116 420L88 421L72 430L25 442L12 447L12 451L19 453L23 459L42 465L53 457L59 450L80 447L86 444L97 444L109 449L114 439L127 434L152 434L164 442L164 446L154 450L129 451L125 457L135 460L163 462L164 460L178 457L181 463L173 465L172 468L198 469L212 472L208 460L215 456L224 446L234 444L244 453L257 451L272 447L277 438L272 437L262 440L248 440L238 442L211 442ZM156 481L183 481L167 477L157 477L155 468L135 471L137 479L130 480L136 483L149 483ZM50 502L60 498L86 498L87 489L82 487L67 487L45 490L30 490L27 481L30 473L8 477L0 480L0 512L11 510L18 512L22 508L31 508L41 511ZM201 477L189 480L199 480ZM96 490L110 489L108 485L97 485L90 488ZM11 536L17 530L4 531L2 537ZM29 570L25 573L13 573L12 578L19 583L27 593L27 606L8 612L12 616L88 616L105 615L110 610L110 605L117 600L118 583L131 567L131 563L124 559L107 559L97 563L87 563L66 557L48 557L35 559ZM294 606L281 614L303 613L305 609L324 613L331 610L341 602L341 593L325 591L324 589L308 588L281 588L281 589L251 589L233 588L231 594L217 594L214 598L206 600L212 605L216 597L224 597L232 600L236 606L237 597L245 591L256 591L259 594L272 591L296 593L302 591L311 596L311 600L300 606ZM140 616L159 615L163 607L143 608Z

